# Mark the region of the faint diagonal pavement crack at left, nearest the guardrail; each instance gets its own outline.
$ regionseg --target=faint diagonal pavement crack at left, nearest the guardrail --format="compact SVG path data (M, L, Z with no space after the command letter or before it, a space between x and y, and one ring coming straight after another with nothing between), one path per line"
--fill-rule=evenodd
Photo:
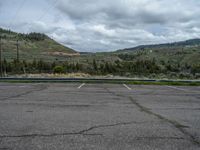
M36 86L34 86L34 87L36 87ZM36 87L36 88L38 88L38 87ZM6 101L6 100L9 100L9 99L18 98L18 97L21 97L21 96L24 96L24 95L28 95L28 94L33 93L33 92L45 90L47 88L48 88L47 85L40 85L38 89L34 89L34 90L23 92L23 93L14 95L14 96L6 97L6 98L3 98L3 99L0 99L0 101Z

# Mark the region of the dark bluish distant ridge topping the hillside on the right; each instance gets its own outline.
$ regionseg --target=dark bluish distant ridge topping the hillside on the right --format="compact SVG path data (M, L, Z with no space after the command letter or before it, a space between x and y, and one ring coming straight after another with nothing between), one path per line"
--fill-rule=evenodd
M200 46L200 39L190 39L190 40L174 42L174 43L140 45L133 48L117 50L117 52L131 52L135 50L145 50L145 49L166 49L166 48L179 49L180 47L192 47L192 46Z

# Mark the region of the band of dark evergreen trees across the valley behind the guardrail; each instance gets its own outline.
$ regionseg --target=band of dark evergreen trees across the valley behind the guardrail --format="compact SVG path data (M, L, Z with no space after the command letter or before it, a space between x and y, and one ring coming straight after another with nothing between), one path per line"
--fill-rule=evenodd
M162 65L161 65L162 64ZM2 61L3 74L27 74L27 73L88 73L91 75L120 75L131 76L140 75L148 76L151 74L180 74L179 77L188 78L187 74L200 74L200 64L196 65L172 65L171 63L158 64L155 59L137 60L137 61L114 61L114 62L97 62L93 59L88 64L78 62L45 62L43 60L25 61L13 59ZM185 75L185 74L186 75Z

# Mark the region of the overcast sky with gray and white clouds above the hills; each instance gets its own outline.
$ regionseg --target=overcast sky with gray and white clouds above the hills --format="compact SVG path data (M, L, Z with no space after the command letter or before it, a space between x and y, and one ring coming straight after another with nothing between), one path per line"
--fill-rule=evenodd
M78 51L200 38L199 0L0 0L0 27Z

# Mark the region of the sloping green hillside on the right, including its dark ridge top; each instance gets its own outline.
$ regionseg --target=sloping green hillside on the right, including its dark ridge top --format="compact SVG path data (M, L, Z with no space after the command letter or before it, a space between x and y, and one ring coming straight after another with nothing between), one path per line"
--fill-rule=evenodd
M155 59L157 62L174 65L195 65L200 63L200 39L182 42L142 45L115 52L122 60Z

